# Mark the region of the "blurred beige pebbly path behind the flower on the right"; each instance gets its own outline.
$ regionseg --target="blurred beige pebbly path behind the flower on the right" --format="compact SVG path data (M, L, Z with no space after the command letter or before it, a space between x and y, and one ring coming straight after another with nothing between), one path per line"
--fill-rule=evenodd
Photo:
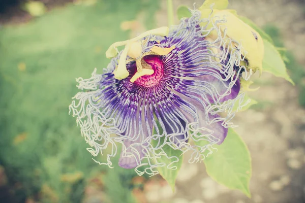
M197 7L202 4L202 1L173 2L174 9L181 4L191 8L195 2ZM285 0L240 0L231 1L230 8L260 26L277 25L285 46L305 65L304 5ZM166 25L165 1L156 16L158 26ZM171 194L167 187L156 187L146 194L151 202L161 199L174 203L305 201L305 111L298 105L298 91L290 83L269 74L264 74L257 82L261 88L251 95L260 104L255 109L238 113L234 119L234 123L239 125L236 131L252 154L252 199L216 184L207 177L202 165L186 163L180 171L176 193Z

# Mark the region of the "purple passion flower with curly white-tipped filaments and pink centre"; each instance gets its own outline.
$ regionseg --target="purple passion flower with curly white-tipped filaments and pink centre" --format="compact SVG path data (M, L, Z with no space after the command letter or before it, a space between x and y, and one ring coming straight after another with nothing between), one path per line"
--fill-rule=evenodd
M139 40L140 56L128 55L124 64L127 78L117 80L113 74L119 54L102 75L95 70L91 78L77 79L79 89L90 91L77 93L70 111L93 156L110 149L107 162L100 164L111 166L121 146L119 166L136 168L139 174L144 173L139 171L144 166L146 173L155 174L154 168L164 163L154 160L167 156L157 153L163 146L192 150L190 161L194 162L224 141L233 105L242 99L239 77L245 69L239 65L238 43L224 40L217 23L207 29L201 26L203 22L210 21L193 11L191 18L171 27L166 37L149 35ZM217 30L217 39L209 38L211 30ZM135 75L142 70L148 74ZM153 140L159 142L157 146Z

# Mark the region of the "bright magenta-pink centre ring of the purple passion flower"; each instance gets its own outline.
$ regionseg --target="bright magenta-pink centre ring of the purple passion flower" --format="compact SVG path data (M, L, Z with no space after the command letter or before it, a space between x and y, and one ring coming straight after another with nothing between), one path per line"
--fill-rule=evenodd
M147 63L149 66L151 66L151 69L154 71L154 73L151 75L141 76L136 79L134 83L144 87L151 87L157 85L164 74L164 68L161 57L162 56L158 55L144 56L144 64Z

